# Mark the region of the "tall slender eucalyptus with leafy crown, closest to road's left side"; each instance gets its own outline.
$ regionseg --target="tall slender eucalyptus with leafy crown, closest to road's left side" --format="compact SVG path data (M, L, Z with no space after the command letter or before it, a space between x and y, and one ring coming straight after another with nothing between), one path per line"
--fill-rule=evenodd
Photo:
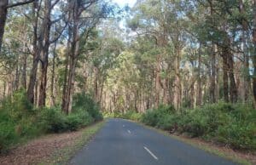
M80 55L80 39L85 41L101 19L106 18L113 11L108 3L98 0L68 1L67 25L67 64L64 77L62 110L67 114L72 109L72 97L76 65Z

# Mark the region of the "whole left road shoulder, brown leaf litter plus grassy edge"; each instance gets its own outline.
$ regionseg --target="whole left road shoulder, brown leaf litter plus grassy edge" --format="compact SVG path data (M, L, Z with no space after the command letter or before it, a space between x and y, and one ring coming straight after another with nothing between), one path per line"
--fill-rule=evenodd
M67 164L102 128L97 122L79 131L48 134L0 155L0 164Z

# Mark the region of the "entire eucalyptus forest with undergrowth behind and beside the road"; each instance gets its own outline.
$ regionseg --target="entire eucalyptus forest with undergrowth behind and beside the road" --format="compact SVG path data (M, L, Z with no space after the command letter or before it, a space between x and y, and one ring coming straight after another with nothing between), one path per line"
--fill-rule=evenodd
M0 151L121 117L256 150L256 0L0 1Z

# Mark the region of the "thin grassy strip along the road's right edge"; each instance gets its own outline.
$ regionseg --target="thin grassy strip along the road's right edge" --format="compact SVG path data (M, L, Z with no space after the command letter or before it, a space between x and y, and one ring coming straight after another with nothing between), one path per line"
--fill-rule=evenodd
M129 120L131 121L131 120ZM131 121L131 122L134 122L134 121ZM174 135L174 134L169 134L168 132L164 131L164 130L161 130L161 129L158 129L158 128L153 128L153 127L150 127L148 125L145 125L143 124L142 122L137 122L139 125L143 126L144 128L149 128L149 129L152 129L160 134L164 134L170 138L173 138L173 139L177 139L179 141L182 141L183 143L186 143L188 145L192 145L196 148L199 148L203 151L207 151L211 154L214 154L214 155L217 155L217 156L221 156L225 159L229 159L230 161L232 162L236 162L236 163L239 163L241 165L252 165L253 163L252 162L249 162L248 160L246 160L245 158L242 158L241 156L238 156L234 153L230 153L230 152L224 152L224 151L221 151L219 150L216 146L212 146L212 145L208 145L208 144L205 144L205 143L199 143L193 139L187 139L185 137L182 137L182 136L177 136L177 135Z

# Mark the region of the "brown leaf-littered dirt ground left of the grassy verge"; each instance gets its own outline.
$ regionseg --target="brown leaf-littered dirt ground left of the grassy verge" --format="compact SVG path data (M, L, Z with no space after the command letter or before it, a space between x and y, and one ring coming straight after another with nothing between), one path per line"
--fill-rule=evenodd
M56 150L73 145L82 130L64 134L49 134L21 145L5 155L0 155L0 164L30 165L37 164L51 156Z

